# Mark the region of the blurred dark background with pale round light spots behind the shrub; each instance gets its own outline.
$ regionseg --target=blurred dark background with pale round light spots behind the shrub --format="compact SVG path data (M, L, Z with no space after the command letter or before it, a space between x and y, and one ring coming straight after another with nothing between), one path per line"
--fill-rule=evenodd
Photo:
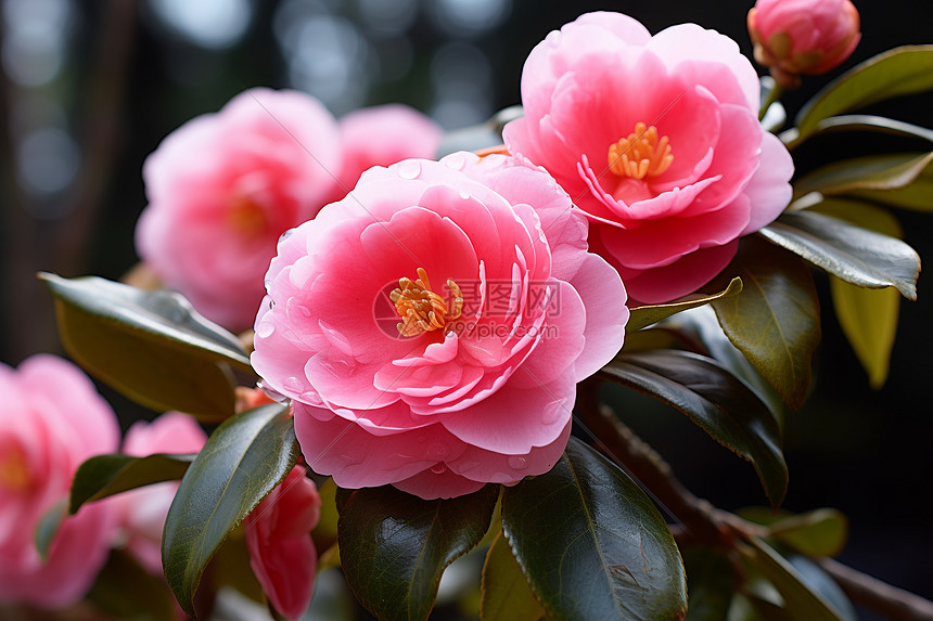
M60 352L47 292L35 272L119 279L137 261L132 231L145 205L145 156L186 120L246 87L297 88L337 116L404 102L446 129L519 103L522 63L551 29L591 10L615 10L651 31L695 22L751 56L751 1L656 0L0 0L0 361ZM931 42L907 0L856 1L862 40L829 76L806 78L784 103L791 116L828 78L885 49ZM764 73L764 70L762 70ZM931 95L874 106L931 126ZM826 137L795 153L798 171L872 151L923 143ZM906 240L933 256L933 218L900 211ZM785 507L833 506L852 519L841 559L933 597L929 493L933 436L933 301L904 302L891 377L868 388L833 318L826 279L817 388L788 412L791 486ZM105 394L126 424L139 412ZM698 494L725 508L765 504L751 466L679 414L624 397L623 416ZM870 617L866 616L866 619Z

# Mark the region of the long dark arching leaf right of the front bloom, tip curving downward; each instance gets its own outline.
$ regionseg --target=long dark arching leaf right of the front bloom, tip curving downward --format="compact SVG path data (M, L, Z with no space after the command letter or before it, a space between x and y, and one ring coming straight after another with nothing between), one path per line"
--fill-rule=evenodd
M788 489L781 429L752 390L715 360L673 349L621 355L600 372L676 407L755 467L772 506Z

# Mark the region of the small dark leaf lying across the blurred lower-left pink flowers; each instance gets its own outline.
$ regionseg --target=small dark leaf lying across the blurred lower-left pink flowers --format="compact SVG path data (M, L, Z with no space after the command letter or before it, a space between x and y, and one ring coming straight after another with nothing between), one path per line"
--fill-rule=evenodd
M195 455L157 453L132 457L122 453L94 455L85 461L72 480L68 512L78 513L81 505L132 490L180 479Z

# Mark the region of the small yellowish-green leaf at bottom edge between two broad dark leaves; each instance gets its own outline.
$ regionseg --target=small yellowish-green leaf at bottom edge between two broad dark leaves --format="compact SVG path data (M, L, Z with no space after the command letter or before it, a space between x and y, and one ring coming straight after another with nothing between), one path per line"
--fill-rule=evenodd
M509 542L499 533L483 565L483 621L538 621L545 609L535 599Z

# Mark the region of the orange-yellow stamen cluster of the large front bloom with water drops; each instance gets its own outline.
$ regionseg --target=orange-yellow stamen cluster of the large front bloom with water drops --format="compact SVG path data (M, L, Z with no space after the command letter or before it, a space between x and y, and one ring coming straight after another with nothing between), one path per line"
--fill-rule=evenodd
M418 280L401 277L398 288L388 294L388 299L395 303L395 310L401 321L398 322L398 333L401 336L417 336L433 329L443 329L448 321L460 316L463 310L463 294L451 280L447 280L447 288L453 294L452 308L438 294L431 290L431 281L424 268L418 268Z

